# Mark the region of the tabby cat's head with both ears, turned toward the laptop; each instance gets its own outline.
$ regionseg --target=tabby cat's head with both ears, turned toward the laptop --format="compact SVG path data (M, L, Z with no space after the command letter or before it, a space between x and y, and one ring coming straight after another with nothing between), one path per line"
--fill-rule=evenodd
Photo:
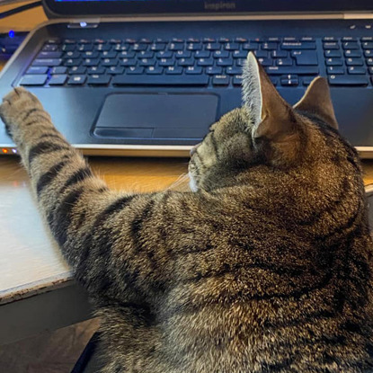
M243 71L243 101L214 123L191 150L191 190L233 186L237 175L262 170L289 172L299 165L331 164L355 158L338 133L326 80L317 77L294 106L280 96L250 53Z

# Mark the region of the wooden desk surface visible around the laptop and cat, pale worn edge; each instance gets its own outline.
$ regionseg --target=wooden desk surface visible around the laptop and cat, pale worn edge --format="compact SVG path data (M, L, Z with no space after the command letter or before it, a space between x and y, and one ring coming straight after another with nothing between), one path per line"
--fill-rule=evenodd
M0 6L0 12L7 8ZM45 14L39 7L1 20L0 31L28 30L44 21ZM186 173L187 162L186 159L90 159L93 170L112 188L132 191L168 187ZM364 162L364 169L365 182L373 182L373 161ZM67 264L41 222L27 174L16 158L0 157L0 208L0 304L67 280Z

